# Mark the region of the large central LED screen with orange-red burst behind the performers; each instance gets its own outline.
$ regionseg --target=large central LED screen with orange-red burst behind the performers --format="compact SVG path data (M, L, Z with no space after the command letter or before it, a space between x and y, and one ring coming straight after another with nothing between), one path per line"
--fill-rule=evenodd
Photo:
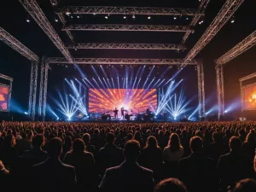
M89 112L105 113L118 108L128 113L145 113L157 108L156 89L90 89Z

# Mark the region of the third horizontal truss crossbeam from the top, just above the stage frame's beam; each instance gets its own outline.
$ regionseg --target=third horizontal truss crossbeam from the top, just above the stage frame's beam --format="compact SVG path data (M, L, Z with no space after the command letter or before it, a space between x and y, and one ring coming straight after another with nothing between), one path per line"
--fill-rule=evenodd
M183 44L100 44L86 43L67 45L68 49L187 49Z

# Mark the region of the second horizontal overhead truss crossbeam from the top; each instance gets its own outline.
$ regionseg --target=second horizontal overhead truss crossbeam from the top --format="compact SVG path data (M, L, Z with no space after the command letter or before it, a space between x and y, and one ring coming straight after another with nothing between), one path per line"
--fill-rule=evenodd
M70 25L63 29L64 31L143 31L143 32L194 32L189 26L162 26L162 25Z

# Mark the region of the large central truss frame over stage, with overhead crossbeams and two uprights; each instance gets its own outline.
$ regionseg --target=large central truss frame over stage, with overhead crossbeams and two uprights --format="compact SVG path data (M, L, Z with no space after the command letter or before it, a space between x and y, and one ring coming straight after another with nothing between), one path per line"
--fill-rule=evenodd
M163 64L163 65L178 65L183 68L187 65L197 65L198 75L198 91L199 91L199 116L205 116L205 90L204 90L204 72L202 63L194 61L195 56L203 49L218 31L224 26L227 20L236 12L244 2L244 0L227 0L223 8L219 11L212 24L207 28L207 31L189 51L189 54L184 59L104 59L104 58L73 58L69 53L68 48L62 43L61 38L55 32L53 26L50 25L42 9L40 9L36 0L19 0L27 12L32 15L32 18L38 23L43 31L52 40L55 46L60 49L65 58L44 58L41 64L41 79L40 79L40 99L39 113L45 115L46 96L47 96L47 79L49 63L67 63L67 64ZM53 6L58 5L57 0L50 0ZM63 30L67 32L68 37L73 41L72 30L90 30L90 31L145 31L145 32L185 32L182 40L184 44L189 38L189 34L194 32L193 26L197 24L204 11L207 8L210 0L201 0L198 10L195 9L169 9L169 8L127 8L127 7L65 7L58 8L56 14L59 16L63 24ZM193 15L194 18L189 26L152 26L152 25L70 25L67 26L65 14L119 14L119 15ZM71 45L69 49L124 49L121 45L116 44L77 44ZM151 46L143 47L140 45L125 44L125 49L166 49L166 46ZM176 49L175 45L168 46L168 49ZM121 61L121 63L119 62Z

